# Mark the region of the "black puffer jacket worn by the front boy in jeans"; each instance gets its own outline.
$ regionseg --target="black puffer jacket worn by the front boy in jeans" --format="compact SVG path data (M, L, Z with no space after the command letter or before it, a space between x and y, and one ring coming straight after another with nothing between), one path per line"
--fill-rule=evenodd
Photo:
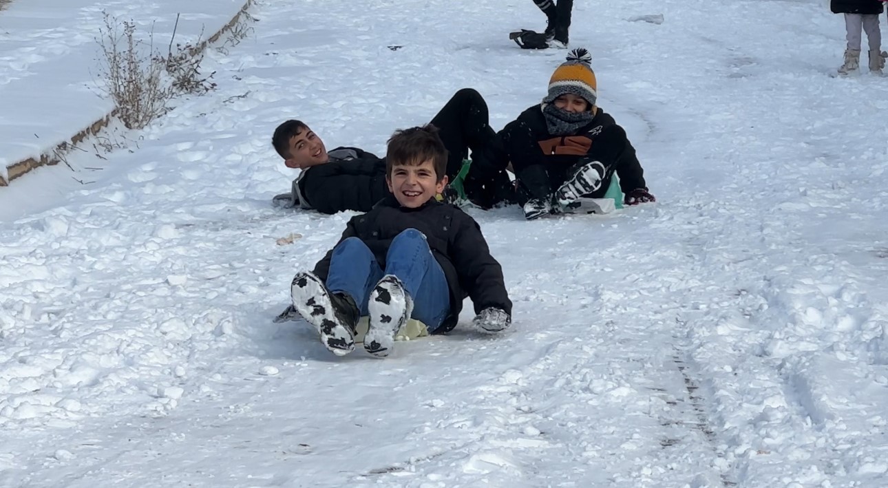
M434 199L418 209L401 207L393 196L380 201L372 210L353 216L342 233L364 241L385 268L385 256L392 240L407 229L423 232L440 264L450 288L450 315L436 334L456 326L466 296L472 298L475 313L496 307L511 315L511 301L503 282L503 268L490 256L487 240L475 220L463 210ZM331 249L314 266L314 274L324 281L329 273Z

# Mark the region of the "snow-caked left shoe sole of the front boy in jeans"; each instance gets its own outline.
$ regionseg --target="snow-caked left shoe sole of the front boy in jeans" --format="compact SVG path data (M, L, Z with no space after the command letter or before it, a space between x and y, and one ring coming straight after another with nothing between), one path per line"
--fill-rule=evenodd
M345 356L354 350L354 336L343 326L333 311L327 288L317 278L299 273L290 286L293 307L306 322L313 325L321 343L337 356Z

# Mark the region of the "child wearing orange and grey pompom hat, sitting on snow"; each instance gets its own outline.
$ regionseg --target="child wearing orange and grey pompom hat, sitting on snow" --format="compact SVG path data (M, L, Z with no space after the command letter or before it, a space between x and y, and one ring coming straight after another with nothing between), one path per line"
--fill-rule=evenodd
M614 173L626 204L654 201L626 131L596 105L597 90L589 51L570 51L543 102L500 132L528 220L604 196Z

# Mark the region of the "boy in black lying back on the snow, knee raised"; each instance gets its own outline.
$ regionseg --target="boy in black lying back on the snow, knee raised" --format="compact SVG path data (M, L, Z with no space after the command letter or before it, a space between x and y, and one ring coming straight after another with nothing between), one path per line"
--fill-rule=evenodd
M432 119L448 150L447 176L453 180L472 150L476 167L495 138L488 123L488 106L478 91L457 91ZM316 209L324 214L343 210L367 212L390 195L385 183L385 160L357 147L337 147L327 152L321 138L304 122L289 120L274 130L274 150L288 168L301 169L290 193L274 197L288 208ZM503 169L476 171L464 181L468 198L483 209L511 201L512 187Z

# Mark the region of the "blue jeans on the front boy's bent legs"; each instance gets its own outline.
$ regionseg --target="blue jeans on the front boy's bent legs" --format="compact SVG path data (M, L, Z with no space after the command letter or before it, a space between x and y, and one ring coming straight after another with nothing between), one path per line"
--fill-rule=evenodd
M425 236L416 229L400 232L392 240L385 256L385 271L363 240L343 240L330 256L327 288L331 293L351 296L361 315L367 315L370 292L386 274L398 277L413 298L413 319L423 322L429 332L440 327L450 311L450 288Z

